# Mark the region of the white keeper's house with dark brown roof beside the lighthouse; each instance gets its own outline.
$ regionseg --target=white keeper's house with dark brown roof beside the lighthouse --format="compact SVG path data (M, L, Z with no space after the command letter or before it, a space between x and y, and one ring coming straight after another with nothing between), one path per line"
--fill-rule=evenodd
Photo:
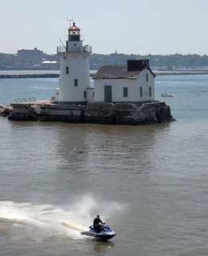
M154 78L149 60L127 60L127 65L104 65L94 76L94 101L154 101Z

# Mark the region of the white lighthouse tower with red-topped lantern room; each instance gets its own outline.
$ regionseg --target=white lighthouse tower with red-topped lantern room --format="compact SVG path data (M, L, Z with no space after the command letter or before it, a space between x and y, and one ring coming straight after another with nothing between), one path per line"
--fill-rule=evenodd
M69 27L66 46L60 53L59 104L86 105L90 88L89 55L92 47L83 46L80 28Z

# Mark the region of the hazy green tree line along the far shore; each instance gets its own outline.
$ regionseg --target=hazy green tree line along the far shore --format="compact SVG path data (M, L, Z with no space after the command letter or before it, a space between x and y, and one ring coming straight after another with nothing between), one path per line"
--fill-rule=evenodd
M15 65L17 56L14 54L0 53L0 69L10 68L21 68ZM112 53L112 54L97 54L93 53L89 57L89 64L91 70L97 70L100 66L105 64L126 64L126 60L136 59L149 59L149 65L155 70L207 70L208 69L208 56L197 55L197 54L173 54L173 55L135 55L135 54L123 54L123 53ZM55 69L59 69L59 54L47 55L44 54L44 60L55 60L58 65ZM28 67L29 68L29 67ZM39 68L44 68L41 65ZM48 67L47 67L48 68ZM54 69L54 68L53 68Z

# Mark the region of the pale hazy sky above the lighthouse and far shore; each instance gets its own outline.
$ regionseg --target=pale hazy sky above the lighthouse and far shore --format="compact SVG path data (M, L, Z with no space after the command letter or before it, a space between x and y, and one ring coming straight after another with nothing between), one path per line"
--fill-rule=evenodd
M0 0L0 52L54 54L67 18L94 53L208 55L208 0Z

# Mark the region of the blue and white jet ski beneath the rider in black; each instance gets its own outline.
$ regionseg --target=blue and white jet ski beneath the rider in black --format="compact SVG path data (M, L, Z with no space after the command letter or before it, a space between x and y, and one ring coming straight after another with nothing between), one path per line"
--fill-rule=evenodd
M102 224L100 225L100 232L97 233L93 225L89 226L89 231L81 233L82 235L87 235L88 237L95 237L99 240L107 241L112 237L116 236L116 233L112 231L109 225Z

